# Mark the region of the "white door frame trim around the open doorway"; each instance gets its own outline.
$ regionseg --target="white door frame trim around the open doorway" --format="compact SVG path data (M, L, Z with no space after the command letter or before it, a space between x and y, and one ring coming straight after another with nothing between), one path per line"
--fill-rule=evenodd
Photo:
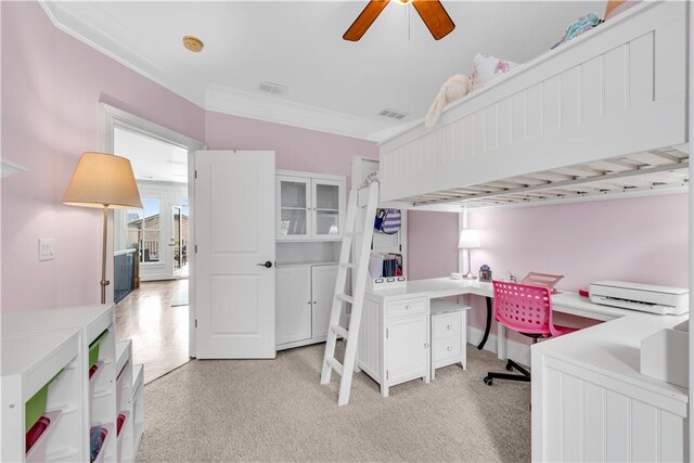
M114 140L113 133L114 128L119 127L126 130L132 130L137 133L142 133L157 140L162 140L166 143L175 144L182 149L188 150L188 197L189 197L189 241L191 244L195 243L195 226L194 226L194 213L193 213L193 203L194 203L194 188L193 182L195 181L195 167L194 167L194 154L197 150L204 150L207 145L193 138L187 137L182 133L176 132L171 129L168 129L164 126L159 126L158 124L151 123L142 117L130 114L126 111L119 110L117 107L111 106L105 103L99 104L99 126L100 126L100 137L99 137L99 147L104 153L113 153ZM108 231L110 239L106 249L106 278L113 280L113 231L114 231L114 220L111 219L108 222ZM196 356L196 330L195 330L195 294L194 294L194 279L195 279L195 252L194 247L191 248L191 253L188 256L188 265L189 265L189 356ZM113 285L106 286L106 300L113 300Z

